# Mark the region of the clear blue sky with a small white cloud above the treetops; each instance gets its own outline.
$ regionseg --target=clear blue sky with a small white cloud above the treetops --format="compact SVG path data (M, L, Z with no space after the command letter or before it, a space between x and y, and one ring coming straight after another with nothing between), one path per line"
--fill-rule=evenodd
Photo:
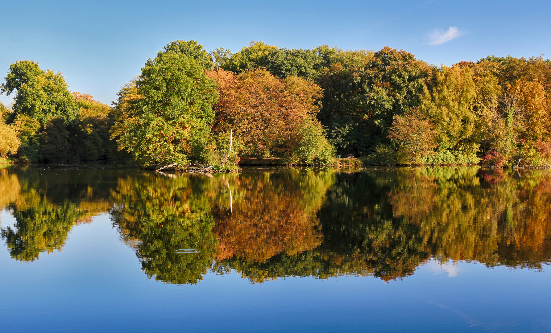
M403 48L433 64L494 54L551 58L550 1L6 1L0 75L30 59L72 91L111 103L172 40L238 51L253 40L287 48ZM10 101L0 96L4 103Z

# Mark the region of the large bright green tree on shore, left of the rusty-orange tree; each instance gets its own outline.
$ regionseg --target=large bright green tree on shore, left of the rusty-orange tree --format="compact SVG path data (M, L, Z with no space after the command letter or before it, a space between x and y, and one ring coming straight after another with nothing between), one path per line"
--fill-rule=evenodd
M118 149L142 165L202 161L218 100L216 85L203 69L184 53L168 51L149 59L136 81L141 97L128 106L128 117L116 121L125 128Z

